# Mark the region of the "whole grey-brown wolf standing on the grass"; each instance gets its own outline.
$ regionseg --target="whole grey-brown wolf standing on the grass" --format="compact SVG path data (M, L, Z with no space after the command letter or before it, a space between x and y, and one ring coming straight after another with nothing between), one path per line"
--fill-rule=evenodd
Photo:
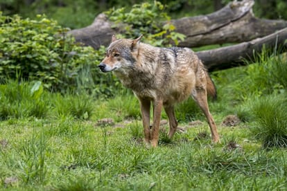
M192 96L205 113L214 142L219 141L214 119L209 113L207 92L216 97L216 89L202 62L189 48L158 48L137 39L116 39L107 48L99 68L114 71L125 87L134 91L141 105L144 140L153 147L159 139L159 122L164 107L172 137L177 129L174 105ZM153 126L150 129L150 102L153 102Z

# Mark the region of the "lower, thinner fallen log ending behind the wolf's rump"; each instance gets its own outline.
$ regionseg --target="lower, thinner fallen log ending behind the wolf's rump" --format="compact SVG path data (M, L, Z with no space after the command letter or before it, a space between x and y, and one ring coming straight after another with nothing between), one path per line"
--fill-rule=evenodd
M266 46L266 50L272 53L275 51L277 54L286 52L287 28L250 42L209 51L199 51L196 55L198 55L209 71L216 71L245 65L245 61L254 61L254 58L261 53L263 46Z

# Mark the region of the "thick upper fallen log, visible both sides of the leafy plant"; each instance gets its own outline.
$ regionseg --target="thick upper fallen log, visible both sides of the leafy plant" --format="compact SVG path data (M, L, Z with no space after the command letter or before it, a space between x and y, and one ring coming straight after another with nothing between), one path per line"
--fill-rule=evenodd
M233 1L209 15L171 20L176 31L186 35L179 46L246 42L287 27L287 21L255 18L252 13L253 4L254 0ZM112 25L106 15L100 14L92 25L69 33L77 42L97 49L101 45L110 44L113 34L124 33L123 28L112 28Z

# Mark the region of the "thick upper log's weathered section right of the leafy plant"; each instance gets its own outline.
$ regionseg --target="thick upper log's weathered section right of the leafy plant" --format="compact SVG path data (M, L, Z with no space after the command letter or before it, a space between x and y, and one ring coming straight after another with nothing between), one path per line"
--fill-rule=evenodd
M254 1L233 1L206 16L173 20L178 33L186 35L179 46L198 47L209 44L247 42L287 27L287 21L254 17Z

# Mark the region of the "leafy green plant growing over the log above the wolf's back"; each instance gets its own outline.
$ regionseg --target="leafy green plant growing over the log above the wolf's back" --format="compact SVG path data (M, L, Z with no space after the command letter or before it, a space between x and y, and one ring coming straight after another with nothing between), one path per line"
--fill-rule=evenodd
M159 1L135 4L130 10L113 8L105 13L114 21L114 27L125 24L125 34L119 37L135 38L143 34L145 42L155 46L177 45L185 37L174 31L175 26ZM161 26L164 21L166 23Z

